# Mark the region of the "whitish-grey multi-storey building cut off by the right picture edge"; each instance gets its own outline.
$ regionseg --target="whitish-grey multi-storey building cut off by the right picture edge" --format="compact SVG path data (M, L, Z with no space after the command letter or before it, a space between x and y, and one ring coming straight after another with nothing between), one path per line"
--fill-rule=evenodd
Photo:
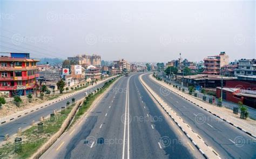
M241 59L238 62L238 68L234 70L234 75L253 76L256 75L256 60Z

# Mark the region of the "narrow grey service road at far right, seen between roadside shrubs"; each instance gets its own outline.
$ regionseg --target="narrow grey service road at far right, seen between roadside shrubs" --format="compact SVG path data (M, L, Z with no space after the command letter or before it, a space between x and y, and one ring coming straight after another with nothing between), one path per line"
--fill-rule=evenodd
M178 85L178 86L180 86L180 87L182 88L182 85L179 84L179 83L176 82L176 81L170 81L170 80L167 79L167 78L163 78L163 79L166 80L167 82L171 83L171 84ZM187 88L186 86L183 86L183 88L185 89L185 92L188 93L188 88ZM204 94L201 93L201 92L199 92L199 91L196 91L196 93L197 93L198 99L203 100ZM217 99L216 97L210 96L210 95L205 95L205 96L206 96L206 101L209 101L210 98L215 98L215 105L217 105L218 99ZM195 97L195 98L196 98L196 97ZM233 111L233 107L234 107L234 106L237 107L238 104L237 104L237 103L233 103L233 102L229 102L229 101L223 99L222 106ZM246 105L245 105L245 106L246 106ZM256 109L253 109L253 108L250 107L250 106L246 106L246 107L247 107L247 110L248 110L248 112L249 112L249 117L250 117L251 119L253 119L253 120L256 120ZM239 113L240 113L240 110L239 110Z

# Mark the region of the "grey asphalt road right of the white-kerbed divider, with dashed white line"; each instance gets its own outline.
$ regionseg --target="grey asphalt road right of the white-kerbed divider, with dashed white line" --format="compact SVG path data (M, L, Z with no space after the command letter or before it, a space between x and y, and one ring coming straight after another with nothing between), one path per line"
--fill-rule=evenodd
M222 158L255 158L256 141L143 75L143 80Z

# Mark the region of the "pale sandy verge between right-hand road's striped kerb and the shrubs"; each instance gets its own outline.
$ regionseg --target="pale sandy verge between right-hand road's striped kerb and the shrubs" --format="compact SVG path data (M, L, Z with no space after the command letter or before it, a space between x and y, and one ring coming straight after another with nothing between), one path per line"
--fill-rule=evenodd
M154 78L152 75L150 75L150 78L159 83L160 85L164 86L165 88L169 89L170 91L176 93L180 97L183 97L190 101L193 104L196 104L197 106L201 107L201 109L206 110L207 112L215 115L216 117L228 122L228 124L237 127L241 131L247 133L248 135L251 135L253 138L256 138L256 121L252 119L240 119L239 114L233 114L231 110L225 109L224 107L217 107L213 106L212 104L203 102L197 98L194 98L191 95L188 95L182 91L178 91L178 89L173 88L172 85L166 84L164 81L158 81L156 78Z

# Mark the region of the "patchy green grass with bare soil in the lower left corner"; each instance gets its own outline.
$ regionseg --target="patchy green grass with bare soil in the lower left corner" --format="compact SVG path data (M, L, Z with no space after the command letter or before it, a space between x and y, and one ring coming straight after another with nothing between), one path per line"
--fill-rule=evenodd
M37 125L26 129L21 134L22 138L22 152L15 153L15 143L11 141L0 147L0 158L29 158L33 153L37 151L48 139L55 134L62 126L64 120L68 117L73 106L72 104L63 113L57 113L55 115L55 121L50 119L45 120L44 131L39 133L37 131Z

